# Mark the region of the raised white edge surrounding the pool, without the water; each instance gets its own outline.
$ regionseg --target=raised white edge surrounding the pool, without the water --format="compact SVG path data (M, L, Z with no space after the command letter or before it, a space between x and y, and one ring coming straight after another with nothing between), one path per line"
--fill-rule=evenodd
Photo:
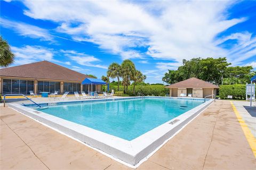
M135 97L137 98L137 97ZM141 97L138 97L141 98ZM158 97L159 98L159 97ZM162 97L161 97L162 98ZM173 97L164 97L173 98ZM122 98L116 98L122 99ZM124 97L123 99L129 99ZM183 98L182 99L193 99ZM198 99L198 98L195 98ZM97 101L106 99L96 99ZM115 100L113 98L109 100ZM90 100L94 101L94 100ZM67 102L67 101L65 101ZM195 116L201 113L207 106L213 102L213 99L206 100L205 103L185 112L172 120L157 126L153 130L150 130L138 138L131 141L124 140L122 138L115 137L98 130L94 130L84 125L80 125L74 122L64 120L62 118L36 111L33 108L23 106L21 104L9 104L9 107L16 109L17 111L25 114L35 120L51 126L73 138L76 138L93 148L97 148L111 155L111 157L117 158L122 162L130 165L130 167L137 167L141 162L145 161L152 152L155 152L159 147L169 138L171 138L176 132L178 132L183 126L191 121ZM177 121L179 120L179 121ZM172 124L170 124L172 123ZM126 165L127 165L126 164Z

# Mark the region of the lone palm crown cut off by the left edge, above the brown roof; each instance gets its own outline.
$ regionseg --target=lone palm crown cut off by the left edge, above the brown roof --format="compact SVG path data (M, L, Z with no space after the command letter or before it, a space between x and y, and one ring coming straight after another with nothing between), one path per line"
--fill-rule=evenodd
M0 37L0 66L7 67L14 62L15 55L12 53L7 41Z

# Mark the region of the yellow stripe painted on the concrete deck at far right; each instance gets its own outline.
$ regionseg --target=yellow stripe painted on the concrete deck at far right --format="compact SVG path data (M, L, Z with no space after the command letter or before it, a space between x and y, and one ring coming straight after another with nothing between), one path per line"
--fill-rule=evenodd
M241 128L244 131L244 135L252 149L253 155L256 158L256 138L253 136L251 130L248 128L247 124L244 122L243 118L240 116L239 112L237 111L235 105L233 104L232 101L230 101L231 106L233 107L233 110L236 114L237 120L241 125Z

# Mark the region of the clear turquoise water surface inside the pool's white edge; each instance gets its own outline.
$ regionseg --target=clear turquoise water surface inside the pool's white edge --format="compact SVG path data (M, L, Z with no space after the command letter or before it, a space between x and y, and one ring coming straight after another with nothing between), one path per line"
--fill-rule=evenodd
M203 100L150 97L56 105L41 112L133 140L202 103Z

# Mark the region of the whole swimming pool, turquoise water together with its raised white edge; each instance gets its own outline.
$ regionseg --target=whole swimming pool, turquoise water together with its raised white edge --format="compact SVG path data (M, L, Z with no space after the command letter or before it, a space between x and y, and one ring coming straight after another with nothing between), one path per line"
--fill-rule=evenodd
M148 96L39 103L44 109L9 107L136 168L212 102Z

